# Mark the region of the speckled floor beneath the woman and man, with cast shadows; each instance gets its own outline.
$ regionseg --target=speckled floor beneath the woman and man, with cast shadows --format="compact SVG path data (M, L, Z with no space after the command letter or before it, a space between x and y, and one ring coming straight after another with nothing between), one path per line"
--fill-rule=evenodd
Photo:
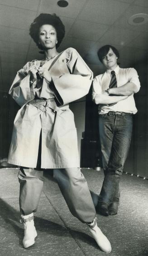
M24 249L23 225L19 222L17 168L0 169L0 256L103 256L85 224L69 212L53 180L45 182L34 221L38 232L35 245ZM99 194L103 172L81 170L90 189ZM121 203L116 216L97 214L97 223L112 245L110 256L148 256L148 180L123 174Z

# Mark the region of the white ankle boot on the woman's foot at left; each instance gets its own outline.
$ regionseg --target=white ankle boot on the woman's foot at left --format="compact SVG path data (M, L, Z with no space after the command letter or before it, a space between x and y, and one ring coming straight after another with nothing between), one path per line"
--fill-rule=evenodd
M34 226L33 213L29 215L21 215L21 219L24 222L24 248L28 248L34 244L34 238L37 236L37 231Z

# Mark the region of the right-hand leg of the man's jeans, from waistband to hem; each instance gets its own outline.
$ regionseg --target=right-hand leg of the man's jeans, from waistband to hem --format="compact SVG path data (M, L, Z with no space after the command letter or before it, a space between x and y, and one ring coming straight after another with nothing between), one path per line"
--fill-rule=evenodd
M119 180L127 158L132 135L132 115L125 114L124 116L114 116L114 118L114 138L101 189L102 201L108 205L112 202L119 203Z

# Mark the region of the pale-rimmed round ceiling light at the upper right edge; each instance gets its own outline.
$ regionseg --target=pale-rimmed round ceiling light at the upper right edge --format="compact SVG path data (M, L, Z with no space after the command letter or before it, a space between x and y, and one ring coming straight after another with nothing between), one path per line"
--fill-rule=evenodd
M148 14L146 13L137 13L129 17L129 25L138 26L143 25L148 22Z

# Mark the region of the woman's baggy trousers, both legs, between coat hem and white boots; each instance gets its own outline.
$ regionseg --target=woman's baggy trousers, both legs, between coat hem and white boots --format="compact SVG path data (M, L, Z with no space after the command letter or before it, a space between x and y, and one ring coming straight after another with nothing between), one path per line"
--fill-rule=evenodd
M43 170L21 167L18 177L21 214L28 215L36 212L43 189ZM56 179L72 215L83 223L92 222L96 214L93 200L97 202L98 196L89 191L80 168L54 169L53 177Z

